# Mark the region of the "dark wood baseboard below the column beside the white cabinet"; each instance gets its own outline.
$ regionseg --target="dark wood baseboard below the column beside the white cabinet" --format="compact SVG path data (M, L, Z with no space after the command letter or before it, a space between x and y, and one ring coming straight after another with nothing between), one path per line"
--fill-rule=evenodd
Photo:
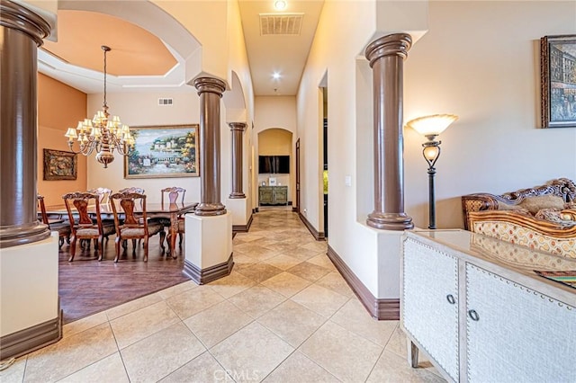
M342 258L328 246L328 257L338 269L350 289L354 291L356 297L366 307L371 316L378 320L399 320L400 319L400 298L376 298L350 270Z

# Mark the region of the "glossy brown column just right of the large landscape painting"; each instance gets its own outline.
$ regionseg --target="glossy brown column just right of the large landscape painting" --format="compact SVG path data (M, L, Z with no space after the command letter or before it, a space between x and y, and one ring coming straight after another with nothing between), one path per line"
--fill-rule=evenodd
M200 95L200 203L197 216L220 216L226 207L220 201L220 98L223 81L199 77L194 86Z

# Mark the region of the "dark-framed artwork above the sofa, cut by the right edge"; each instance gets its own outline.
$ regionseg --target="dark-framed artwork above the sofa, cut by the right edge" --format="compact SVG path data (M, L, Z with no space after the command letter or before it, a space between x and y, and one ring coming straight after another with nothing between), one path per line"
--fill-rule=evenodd
M576 127L576 35L540 39L542 127Z

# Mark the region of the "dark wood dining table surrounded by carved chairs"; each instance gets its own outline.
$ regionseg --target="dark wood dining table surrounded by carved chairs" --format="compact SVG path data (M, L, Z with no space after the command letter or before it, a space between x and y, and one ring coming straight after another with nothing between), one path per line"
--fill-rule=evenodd
M100 204L100 217L102 219L113 219L113 210L112 210L112 203L117 202L107 202ZM178 234L178 218L185 214L193 211L196 209L196 205L198 202L184 202L184 203L159 203L159 202L150 202L146 203L146 216L147 218L169 218L170 219L170 243L168 251L166 254L172 254L175 257L175 244L176 244L176 236ZM123 215L122 209L117 205L117 211L120 216ZM136 204L135 212L141 212L142 209ZM65 205L52 205L46 207L46 213L48 215L67 215L67 209ZM94 214L96 213L95 205L88 206L88 213Z

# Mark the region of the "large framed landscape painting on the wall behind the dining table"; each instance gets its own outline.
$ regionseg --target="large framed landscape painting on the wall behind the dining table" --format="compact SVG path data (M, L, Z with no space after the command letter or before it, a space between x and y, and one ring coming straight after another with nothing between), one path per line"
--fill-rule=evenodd
M197 177L198 125L132 127L136 143L124 157L124 178Z

